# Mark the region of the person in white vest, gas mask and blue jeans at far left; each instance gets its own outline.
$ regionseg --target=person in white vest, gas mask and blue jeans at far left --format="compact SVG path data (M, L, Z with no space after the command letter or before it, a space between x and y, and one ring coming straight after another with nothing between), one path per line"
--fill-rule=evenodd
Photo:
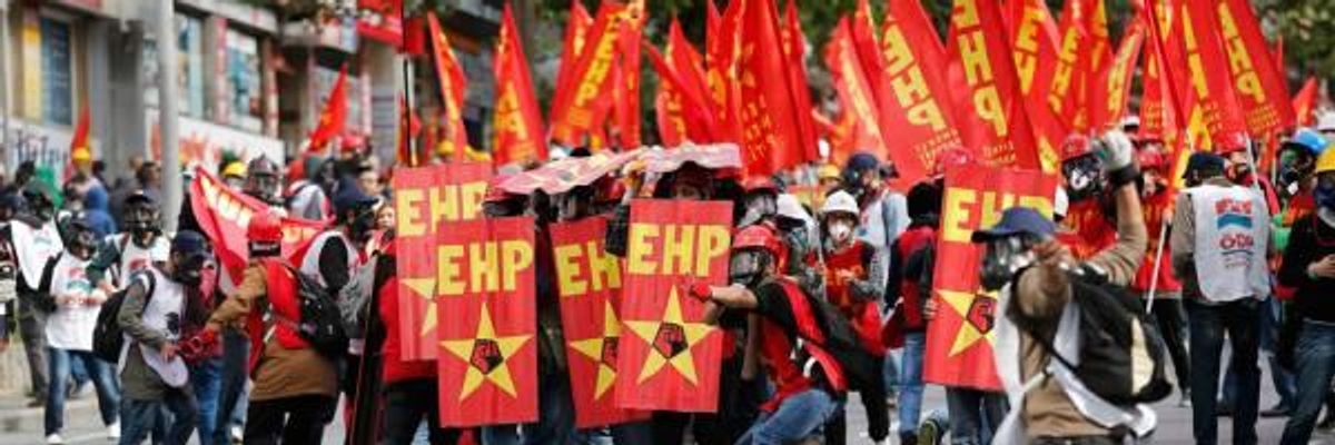
M47 319L47 361L49 365L49 388L47 389L45 436L47 444L64 444L60 436L64 429L67 380L71 359L77 357L93 386L97 389L97 409L108 438L120 437L117 410L120 409L120 388L107 363L92 354L93 325L97 310L107 301L107 293L93 286L88 277L88 265L97 249L97 234L87 220L75 219L69 223L69 238L65 251L52 258L49 270L49 298L56 309Z

